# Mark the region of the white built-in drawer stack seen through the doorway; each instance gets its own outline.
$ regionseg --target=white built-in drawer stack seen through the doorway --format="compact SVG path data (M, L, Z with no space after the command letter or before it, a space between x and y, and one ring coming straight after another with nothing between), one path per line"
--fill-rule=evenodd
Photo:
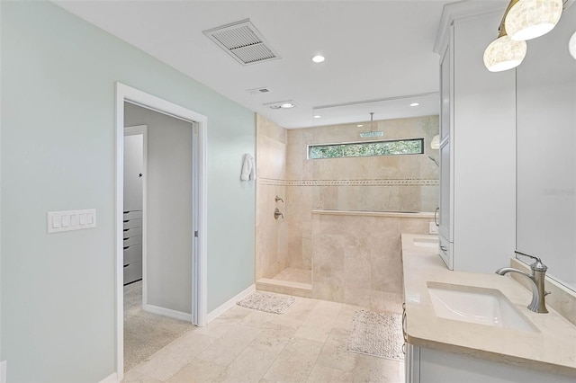
M124 211L124 284L142 279L142 211Z

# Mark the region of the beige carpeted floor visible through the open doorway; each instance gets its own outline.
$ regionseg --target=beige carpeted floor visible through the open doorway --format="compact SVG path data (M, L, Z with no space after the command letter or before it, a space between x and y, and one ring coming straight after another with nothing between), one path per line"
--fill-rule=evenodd
M189 322L142 310L142 281L124 286L124 371L192 328Z

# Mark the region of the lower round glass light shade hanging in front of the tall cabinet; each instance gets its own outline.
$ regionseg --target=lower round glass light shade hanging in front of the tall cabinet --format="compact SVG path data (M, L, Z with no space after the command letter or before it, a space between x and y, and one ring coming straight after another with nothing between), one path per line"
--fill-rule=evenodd
M514 41L504 35L491 42L484 50L484 65L491 72L518 67L526 57L526 41Z

